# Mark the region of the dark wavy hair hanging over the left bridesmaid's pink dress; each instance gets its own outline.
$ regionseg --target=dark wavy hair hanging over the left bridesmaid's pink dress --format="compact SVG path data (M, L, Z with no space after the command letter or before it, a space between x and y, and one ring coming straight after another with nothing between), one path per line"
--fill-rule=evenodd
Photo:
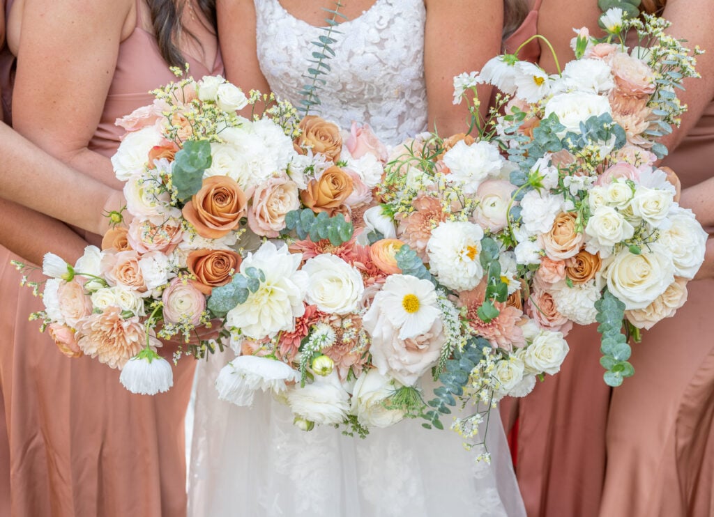
M191 0L186 0L191 1ZM198 41L196 36L181 24L181 14L186 1L176 0L146 0L151 11L151 23L154 25L154 34L159 43L159 52L166 63L171 66L183 68L186 60L178 50L178 38L181 33ZM197 0L198 9L203 14L203 19L208 21L209 29L216 34L216 0ZM199 42L200 43L200 42Z

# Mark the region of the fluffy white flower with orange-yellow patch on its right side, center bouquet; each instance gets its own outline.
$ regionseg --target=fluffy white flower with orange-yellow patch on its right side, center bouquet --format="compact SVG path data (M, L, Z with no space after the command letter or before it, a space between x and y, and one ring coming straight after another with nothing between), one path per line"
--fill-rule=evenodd
M426 244L431 272L441 284L456 291L473 289L483 278L483 230L473 222L440 222Z

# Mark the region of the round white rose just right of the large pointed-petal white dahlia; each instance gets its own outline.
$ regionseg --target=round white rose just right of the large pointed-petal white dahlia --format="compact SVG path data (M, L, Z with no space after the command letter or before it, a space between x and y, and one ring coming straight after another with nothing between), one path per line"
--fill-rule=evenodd
M348 314L357 309L364 282L356 267L325 253L305 262L303 271L309 277L306 302L328 314Z

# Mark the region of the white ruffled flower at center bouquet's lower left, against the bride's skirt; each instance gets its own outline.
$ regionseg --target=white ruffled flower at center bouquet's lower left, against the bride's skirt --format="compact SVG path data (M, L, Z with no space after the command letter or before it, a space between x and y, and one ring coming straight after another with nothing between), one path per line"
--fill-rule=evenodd
M298 372L276 359L241 355L221 369L216 379L218 399L237 406L250 406L256 390L279 394L286 390L286 382L300 379Z

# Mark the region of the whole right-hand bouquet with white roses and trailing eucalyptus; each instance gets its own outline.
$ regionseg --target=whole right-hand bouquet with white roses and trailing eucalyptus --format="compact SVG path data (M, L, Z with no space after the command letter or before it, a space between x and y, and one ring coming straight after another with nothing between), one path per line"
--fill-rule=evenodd
M707 234L676 202L673 171L655 165L695 60L663 19L610 9L601 21L608 36L580 29L558 75L506 55L473 81L512 96L498 131L518 166L509 230L526 311L561 332L599 322L605 382L618 386L634 373L628 339L685 302ZM625 46L629 30L646 46Z

